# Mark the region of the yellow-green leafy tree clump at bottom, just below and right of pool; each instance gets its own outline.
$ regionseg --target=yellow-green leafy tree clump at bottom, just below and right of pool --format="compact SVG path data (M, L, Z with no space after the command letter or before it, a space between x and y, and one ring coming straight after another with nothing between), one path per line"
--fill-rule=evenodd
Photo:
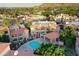
M54 44L42 44L41 47L34 51L34 54L43 56L63 56L64 49Z

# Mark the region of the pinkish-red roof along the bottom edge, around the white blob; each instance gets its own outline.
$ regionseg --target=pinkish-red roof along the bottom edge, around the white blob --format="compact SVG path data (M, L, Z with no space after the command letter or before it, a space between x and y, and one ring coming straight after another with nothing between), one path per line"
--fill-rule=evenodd
M9 51L8 53L7 53L7 56L15 56L14 55L14 52L15 51ZM18 54L17 54L17 56L34 56L34 54L32 53L32 52L30 52L30 51L18 51Z

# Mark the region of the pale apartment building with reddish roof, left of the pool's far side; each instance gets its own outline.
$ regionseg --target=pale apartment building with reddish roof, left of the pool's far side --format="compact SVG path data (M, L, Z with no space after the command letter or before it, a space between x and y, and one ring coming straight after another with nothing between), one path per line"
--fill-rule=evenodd
M23 40L29 38L29 30L25 28L23 24L19 26L12 25L10 26L10 41L13 40Z

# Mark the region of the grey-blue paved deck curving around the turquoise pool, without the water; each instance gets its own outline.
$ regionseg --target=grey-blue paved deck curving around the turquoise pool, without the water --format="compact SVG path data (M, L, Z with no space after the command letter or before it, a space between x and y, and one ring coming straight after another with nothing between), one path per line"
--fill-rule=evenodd
M44 42L44 39L42 38L37 38L37 39L34 39L32 41L29 41L27 43L25 43L24 45L22 45L18 51L30 51L30 52L34 52L33 48L29 45L29 43L31 42L39 42L40 44Z

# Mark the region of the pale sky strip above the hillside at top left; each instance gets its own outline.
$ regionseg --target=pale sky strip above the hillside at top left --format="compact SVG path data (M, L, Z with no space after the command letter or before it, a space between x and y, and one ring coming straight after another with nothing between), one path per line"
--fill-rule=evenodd
M0 7L33 7L42 3L0 3Z

